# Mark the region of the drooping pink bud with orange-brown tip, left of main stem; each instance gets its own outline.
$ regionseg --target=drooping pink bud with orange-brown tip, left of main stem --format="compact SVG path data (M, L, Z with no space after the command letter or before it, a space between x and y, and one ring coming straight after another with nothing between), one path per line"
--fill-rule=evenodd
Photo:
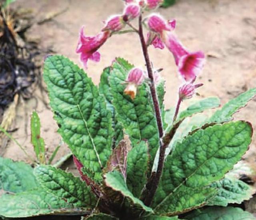
M124 89L124 94L129 95L132 99L134 99L137 94L137 88L143 83L144 79L145 75L142 69L131 69L125 81L127 83L127 86Z

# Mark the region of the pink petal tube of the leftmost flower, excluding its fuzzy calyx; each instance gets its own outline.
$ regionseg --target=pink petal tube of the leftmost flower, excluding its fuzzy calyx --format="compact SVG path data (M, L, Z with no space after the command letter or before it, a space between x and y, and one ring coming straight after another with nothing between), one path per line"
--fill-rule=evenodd
M80 60L87 68L88 59L99 62L100 53L97 51L110 36L110 31L101 31L95 36L85 36L84 27L80 29L79 41L76 47L76 53L80 53Z

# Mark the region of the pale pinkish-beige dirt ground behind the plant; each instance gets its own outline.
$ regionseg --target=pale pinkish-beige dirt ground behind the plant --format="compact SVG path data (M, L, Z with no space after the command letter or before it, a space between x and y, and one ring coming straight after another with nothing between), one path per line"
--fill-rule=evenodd
M159 9L167 19L176 19L176 33L184 45L191 51L202 50L208 56L204 71L197 80L198 83L204 83L204 86L198 89L201 97L218 96L224 104L230 98L256 86L255 3L255 0L178 0L168 9ZM69 57L82 67L79 56L75 53L80 27L85 25L85 32L88 35L96 34L102 28L103 20L112 14L122 12L123 3L121 0L17 0L13 7L32 9L35 21L67 9L48 22L32 25L26 32L26 37L40 41L40 48L52 48L56 53ZM116 56L144 67L139 39L134 33L112 36L100 49L100 53L100 63L89 62L87 70L96 84L99 83L102 69L110 65ZM150 48L150 57L155 68L164 68L161 74L166 80L165 105L166 108L170 108L177 101L176 93L181 83L174 59L166 49ZM39 94L38 91L36 93ZM44 98L47 99L46 96ZM183 107L189 102L184 102ZM13 133L14 138L33 156L29 116L35 107L34 99L18 106L15 123L18 131ZM249 120L256 128L255 110L256 99L235 117ZM52 118L52 112L41 100L38 100L37 111L41 118L42 137L45 139L48 152L51 153L61 138L56 134L57 126ZM255 143L254 136L251 149L246 155L246 159L252 165L255 165ZM13 142L1 151L4 157L29 162ZM62 145L56 160L66 153L68 148Z

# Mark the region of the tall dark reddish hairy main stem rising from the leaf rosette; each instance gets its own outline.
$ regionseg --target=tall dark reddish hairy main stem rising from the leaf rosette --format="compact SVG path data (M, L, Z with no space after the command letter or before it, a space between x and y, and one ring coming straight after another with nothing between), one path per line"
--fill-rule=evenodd
M143 55L144 55L144 58L146 61L148 77L151 80L150 92L151 92L151 96L152 96L152 100L153 100L153 104L154 104L154 111L156 114L156 122L157 122L157 126L158 126L158 133L159 133L159 139L160 139L160 154L159 154L156 175L154 175L154 177L152 179L152 184L150 184L152 187L150 189L148 189L149 192L148 192L146 198L144 199L144 204L146 206L150 206L150 204L154 198L154 194L156 193L156 189L158 187L160 177L162 175L162 170L164 167L164 154L165 154L166 147L164 147L164 145L162 143L162 137L164 134L163 125L162 125L162 116L161 116L161 110L160 110L160 106L159 106L159 102L158 102L158 97L156 94L156 87L155 87L155 83L154 83L152 65L151 65L151 62L149 59L148 49L147 49L146 41L145 41L145 38L143 35L142 16L141 15L139 17L139 36L140 36L140 43L142 46Z

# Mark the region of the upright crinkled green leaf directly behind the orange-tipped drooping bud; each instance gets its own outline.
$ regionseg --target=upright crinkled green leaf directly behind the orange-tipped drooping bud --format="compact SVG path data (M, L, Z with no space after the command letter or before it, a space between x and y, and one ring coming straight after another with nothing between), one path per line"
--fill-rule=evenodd
M125 132L129 135L132 145L143 139L148 140L150 149L150 160L153 162L159 146L158 128L156 118L151 106L149 88L146 83L138 87L136 98L124 94L126 80L129 70L133 66L121 58L113 63L109 77L113 105L116 109L117 120L124 126Z

